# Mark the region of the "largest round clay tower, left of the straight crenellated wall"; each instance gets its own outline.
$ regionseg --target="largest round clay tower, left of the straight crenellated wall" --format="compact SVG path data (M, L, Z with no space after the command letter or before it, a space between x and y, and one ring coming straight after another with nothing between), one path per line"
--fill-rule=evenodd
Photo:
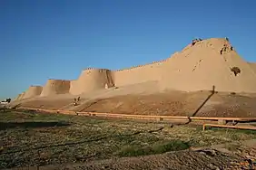
M70 93L79 95L84 92L113 87L113 78L107 69L86 69L82 71L78 80L71 81Z

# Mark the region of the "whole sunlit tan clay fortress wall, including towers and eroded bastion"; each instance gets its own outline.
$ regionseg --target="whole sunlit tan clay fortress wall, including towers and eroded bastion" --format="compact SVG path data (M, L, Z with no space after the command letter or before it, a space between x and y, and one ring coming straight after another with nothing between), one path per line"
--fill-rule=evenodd
M240 68L239 75L231 72L232 67ZM211 90L215 85L220 91L254 92L255 76L255 63L243 61L226 39L212 38L191 43L166 60L117 71L88 68L77 80L48 80L40 96L68 92L79 95L154 80L160 82L162 89ZM22 98L24 94L19 97Z

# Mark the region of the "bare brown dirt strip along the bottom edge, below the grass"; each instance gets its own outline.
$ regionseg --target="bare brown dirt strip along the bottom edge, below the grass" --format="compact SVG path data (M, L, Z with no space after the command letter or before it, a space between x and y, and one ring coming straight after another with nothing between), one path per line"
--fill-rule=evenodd
M64 165L58 167L56 165L50 165L42 169L256 169L256 164L252 162L256 158L256 147L241 146L240 148L243 149L243 152L240 150L238 152L232 152L226 148L203 149L200 151L186 150L155 156L109 159L80 165ZM219 150L225 150L225 152Z

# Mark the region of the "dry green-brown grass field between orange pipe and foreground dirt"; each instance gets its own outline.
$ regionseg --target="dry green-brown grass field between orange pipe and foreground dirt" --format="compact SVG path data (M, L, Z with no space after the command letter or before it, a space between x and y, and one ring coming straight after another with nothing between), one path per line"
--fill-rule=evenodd
M170 127L170 124L161 122L90 118L34 111L11 111L1 113L0 117L3 124L10 121L54 121L69 124L63 127L2 128L1 168L161 154L190 146L210 146L256 137L255 133L242 130L212 128L202 131L202 127Z

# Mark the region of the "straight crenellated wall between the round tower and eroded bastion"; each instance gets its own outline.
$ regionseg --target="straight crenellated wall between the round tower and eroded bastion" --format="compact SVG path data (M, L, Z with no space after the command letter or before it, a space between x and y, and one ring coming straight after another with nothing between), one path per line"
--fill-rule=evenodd
M142 83L146 81L159 80L162 61L154 61L150 64L138 65L129 69L113 71L114 85L117 87Z

